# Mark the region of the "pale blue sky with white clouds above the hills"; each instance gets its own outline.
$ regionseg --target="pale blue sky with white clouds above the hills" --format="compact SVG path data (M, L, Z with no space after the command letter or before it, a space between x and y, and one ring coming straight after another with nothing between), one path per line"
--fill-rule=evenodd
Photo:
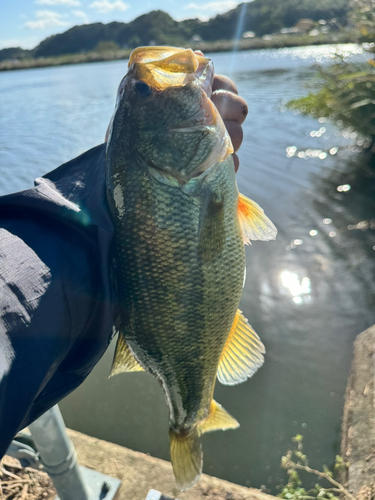
M161 9L174 19L209 19L233 9L236 0L0 0L0 49L31 49L47 36L77 24L129 22Z

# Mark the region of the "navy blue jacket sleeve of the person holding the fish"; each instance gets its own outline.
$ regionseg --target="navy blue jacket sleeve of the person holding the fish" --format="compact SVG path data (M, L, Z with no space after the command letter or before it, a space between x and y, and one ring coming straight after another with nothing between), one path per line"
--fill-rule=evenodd
M0 457L113 336L105 144L0 197Z

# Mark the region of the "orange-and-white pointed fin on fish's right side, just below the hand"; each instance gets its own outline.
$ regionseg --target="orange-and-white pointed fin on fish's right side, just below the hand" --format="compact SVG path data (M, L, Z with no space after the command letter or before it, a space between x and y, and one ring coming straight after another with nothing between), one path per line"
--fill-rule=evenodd
M264 210L243 194L239 194L238 218L245 245L251 245L251 240L269 241L276 238L277 229Z

